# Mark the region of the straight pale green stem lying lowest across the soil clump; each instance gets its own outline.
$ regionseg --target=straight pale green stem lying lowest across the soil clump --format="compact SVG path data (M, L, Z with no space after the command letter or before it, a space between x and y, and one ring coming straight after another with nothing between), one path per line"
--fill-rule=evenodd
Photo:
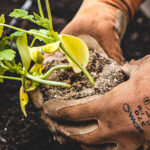
M33 81L36 81L38 83L42 83L42 84L48 84L48 85L52 85L52 86L61 86L61 87L65 87L65 88L69 88L70 87L70 85L66 84L66 83L42 80L42 79L33 77L30 74L26 74L25 77L28 78L28 79L31 79Z

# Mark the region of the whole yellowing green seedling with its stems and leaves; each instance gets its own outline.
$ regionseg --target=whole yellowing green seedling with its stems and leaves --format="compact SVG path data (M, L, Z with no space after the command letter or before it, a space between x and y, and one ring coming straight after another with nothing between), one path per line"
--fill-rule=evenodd
M50 76L56 69L72 68L75 73L83 71L92 85L94 80L86 70L89 61L89 49L87 45L79 38L70 35L59 35L54 31L52 25L52 17L49 1L45 0L48 18L45 18L41 1L38 0L40 16L36 13L29 15L27 11L15 9L9 16L14 18L28 19L37 24L40 29L24 30L14 26L5 24L5 17L0 16L0 38L3 35L3 28L8 27L16 30L10 36L1 38L0 41L0 82L4 79L18 80L22 82L20 88L20 105L22 112L27 116L25 106L28 103L28 92L34 90L40 83L49 84L52 86L62 86L69 88L70 85L62 82L48 81L46 78ZM28 36L33 37L33 41L28 46ZM12 42L15 40L17 49L19 51L21 61L16 63L16 52L13 50ZM45 45L34 47L36 40L43 42ZM8 46L8 41L11 43ZM61 51L65 54L69 65L58 65L50 68L43 74L43 54L54 53ZM31 61L34 65L31 67ZM5 72L9 71L18 74L20 77L5 76Z

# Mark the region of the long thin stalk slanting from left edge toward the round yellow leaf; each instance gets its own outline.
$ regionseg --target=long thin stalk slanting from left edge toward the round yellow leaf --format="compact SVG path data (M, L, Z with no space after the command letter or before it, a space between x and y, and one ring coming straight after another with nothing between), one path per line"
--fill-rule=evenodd
M8 24L0 23L0 26L5 26L5 27L11 28L11 29L14 29L14 30L17 30L17 31L21 31L21 32L24 32L24 33L27 33L27 34L30 34L30 35L37 35L37 36L40 36L40 37L43 37L43 38L46 38L46 39L49 39L49 40L53 40L53 38L51 38L51 37L48 37L48 36L45 36L45 35L42 35L42 34L38 34L38 33L34 33L34 32L31 32L31 31L23 30L23 29L20 29L20 28L17 28L17 27L8 25Z

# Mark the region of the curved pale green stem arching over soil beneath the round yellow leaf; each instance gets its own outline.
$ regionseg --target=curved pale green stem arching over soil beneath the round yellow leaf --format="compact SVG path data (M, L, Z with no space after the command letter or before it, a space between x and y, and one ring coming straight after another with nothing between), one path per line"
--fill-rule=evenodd
M54 66L52 68L50 68L42 77L41 79L46 79L47 77L49 77L55 70L58 69L69 69L71 68L71 66L69 65L58 65L58 66Z

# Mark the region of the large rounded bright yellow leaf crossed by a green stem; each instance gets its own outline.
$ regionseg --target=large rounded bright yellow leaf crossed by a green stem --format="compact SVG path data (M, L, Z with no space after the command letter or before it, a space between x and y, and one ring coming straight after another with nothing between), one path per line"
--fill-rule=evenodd
M87 45L81 39L70 35L61 35L60 39L69 52L80 62L84 68L86 68L89 62L89 49ZM66 57L74 72L81 72L81 69L74 64L68 56Z

